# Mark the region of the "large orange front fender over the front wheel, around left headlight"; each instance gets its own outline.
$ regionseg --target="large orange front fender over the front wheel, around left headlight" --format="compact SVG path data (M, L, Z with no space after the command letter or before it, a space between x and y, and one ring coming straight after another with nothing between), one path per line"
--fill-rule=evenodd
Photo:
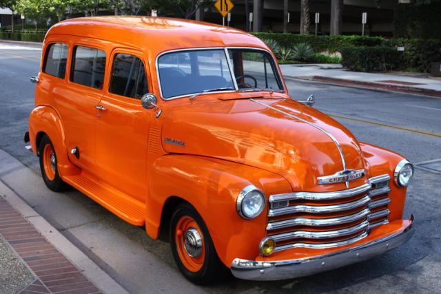
M178 196L192 204L202 216L220 260L231 266L234 258L255 258L265 236L267 207L254 220L241 218L236 198L248 185L265 193L291 191L289 182L263 169L236 162L170 154L157 158L149 173L146 229L158 238L161 213L168 198Z

